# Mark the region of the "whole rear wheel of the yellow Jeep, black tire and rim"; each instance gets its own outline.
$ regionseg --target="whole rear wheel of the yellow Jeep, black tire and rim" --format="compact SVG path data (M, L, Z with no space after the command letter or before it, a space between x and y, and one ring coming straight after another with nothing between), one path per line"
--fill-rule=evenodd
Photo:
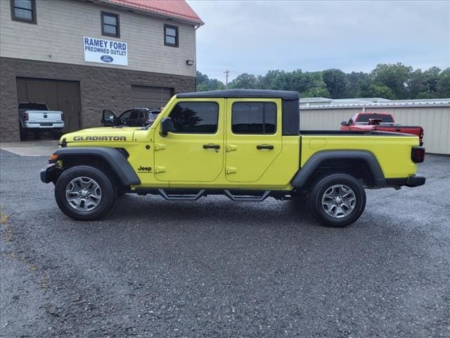
M354 223L365 207L366 192L353 176L331 174L311 187L309 211L327 227L346 227Z

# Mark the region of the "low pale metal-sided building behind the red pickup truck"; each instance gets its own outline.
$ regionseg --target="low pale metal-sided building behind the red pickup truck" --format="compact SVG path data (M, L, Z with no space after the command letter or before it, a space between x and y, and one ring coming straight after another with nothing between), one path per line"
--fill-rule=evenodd
M450 99L300 99L300 127L302 130L339 130L342 121L361 112L390 113L396 122L420 125L429 153L450 154Z

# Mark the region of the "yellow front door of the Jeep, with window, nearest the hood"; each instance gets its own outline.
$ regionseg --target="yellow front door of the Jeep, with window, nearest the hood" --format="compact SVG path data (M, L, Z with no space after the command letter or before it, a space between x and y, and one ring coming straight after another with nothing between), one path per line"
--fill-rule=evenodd
M155 132L155 177L171 182L212 182L224 167L224 99L178 102L168 117L174 132ZM176 184L175 184L176 185ZM182 184L181 184L182 185Z

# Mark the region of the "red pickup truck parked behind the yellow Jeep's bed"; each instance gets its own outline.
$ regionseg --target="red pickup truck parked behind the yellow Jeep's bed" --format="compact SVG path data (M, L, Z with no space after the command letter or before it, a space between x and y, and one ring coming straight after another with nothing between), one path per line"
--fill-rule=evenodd
M348 122L342 121L340 125L340 130L378 130L413 134L419 137L420 146L423 145L423 127L395 123L394 116L388 113L357 113Z

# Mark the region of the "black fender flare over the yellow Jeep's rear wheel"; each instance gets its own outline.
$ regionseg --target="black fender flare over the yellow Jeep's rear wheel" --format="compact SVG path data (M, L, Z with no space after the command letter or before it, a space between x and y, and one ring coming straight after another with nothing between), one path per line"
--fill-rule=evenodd
M311 156L307 163L297 171L291 184L293 187L304 187L319 165L327 160L359 160L363 161L373 178L374 187L385 187L386 179L381 170L377 158L370 152L364 150L324 150Z

